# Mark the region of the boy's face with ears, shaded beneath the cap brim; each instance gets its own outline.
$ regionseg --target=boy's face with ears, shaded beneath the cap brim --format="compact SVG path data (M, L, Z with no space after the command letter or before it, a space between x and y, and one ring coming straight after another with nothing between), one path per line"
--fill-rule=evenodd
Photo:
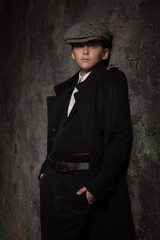
M109 56L109 49L103 48L100 41L89 41L85 43L75 43L71 49L72 59L76 61L84 76L91 71L101 60L106 60Z

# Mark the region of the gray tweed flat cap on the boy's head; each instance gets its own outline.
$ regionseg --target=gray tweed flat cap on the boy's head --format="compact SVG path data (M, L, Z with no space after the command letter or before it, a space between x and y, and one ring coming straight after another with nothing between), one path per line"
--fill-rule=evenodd
M81 22L73 25L64 34L68 44L83 43L91 40L110 41L111 34L104 23Z

